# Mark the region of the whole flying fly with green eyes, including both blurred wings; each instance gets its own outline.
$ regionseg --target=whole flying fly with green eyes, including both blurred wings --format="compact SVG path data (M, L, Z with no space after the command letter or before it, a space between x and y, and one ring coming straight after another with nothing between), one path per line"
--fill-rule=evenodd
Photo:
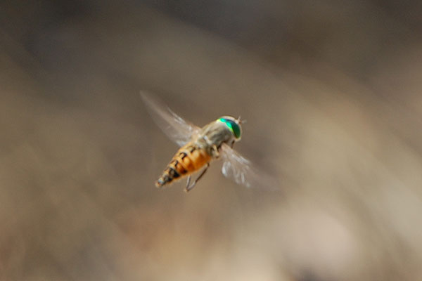
M186 122L147 93L142 92L141 97L155 123L181 147L155 182L158 188L188 176L186 191L189 191L205 174L213 159L223 159L222 174L227 178L247 187L274 189L276 181L273 177L233 150L234 143L241 140L240 118L223 116L200 128ZM191 174L202 168L198 178L190 184Z

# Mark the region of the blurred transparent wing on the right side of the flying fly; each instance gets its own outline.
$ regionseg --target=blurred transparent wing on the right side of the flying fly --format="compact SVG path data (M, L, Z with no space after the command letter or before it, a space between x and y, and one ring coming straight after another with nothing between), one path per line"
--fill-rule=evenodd
M231 178L236 183L245 185L247 188L259 187L269 190L279 188L276 178L257 168L248 159L223 143L220 149L223 158L222 173L226 178Z

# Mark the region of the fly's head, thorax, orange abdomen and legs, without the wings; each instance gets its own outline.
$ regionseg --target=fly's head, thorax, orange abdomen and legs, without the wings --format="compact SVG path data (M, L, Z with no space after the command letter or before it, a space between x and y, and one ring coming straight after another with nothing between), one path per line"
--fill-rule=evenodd
M233 146L234 142L240 139L240 119L224 116L207 124L203 129L200 129L195 139L177 151L155 185L160 188L167 183L171 183L174 179L188 176L206 166L200 174L200 176L203 176L210 161L219 157L219 148L222 143L230 143ZM200 176L192 185L186 186L187 191L193 188ZM190 178L188 179L189 182Z

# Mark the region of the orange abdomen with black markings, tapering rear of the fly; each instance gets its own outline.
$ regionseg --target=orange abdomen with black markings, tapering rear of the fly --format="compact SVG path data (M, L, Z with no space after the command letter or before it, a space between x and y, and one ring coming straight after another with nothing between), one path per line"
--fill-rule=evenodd
M192 174L210 160L211 156L205 150L199 148L198 145L188 143L177 151L158 181L155 182L155 186L160 188L183 176Z

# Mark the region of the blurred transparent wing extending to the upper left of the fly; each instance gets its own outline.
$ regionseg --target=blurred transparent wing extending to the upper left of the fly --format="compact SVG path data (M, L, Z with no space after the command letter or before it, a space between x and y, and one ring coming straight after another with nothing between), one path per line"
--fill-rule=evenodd
M141 98L146 104L148 113L164 133L179 146L183 146L195 137L200 128L186 122L167 105L153 98L150 94L141 91Z

